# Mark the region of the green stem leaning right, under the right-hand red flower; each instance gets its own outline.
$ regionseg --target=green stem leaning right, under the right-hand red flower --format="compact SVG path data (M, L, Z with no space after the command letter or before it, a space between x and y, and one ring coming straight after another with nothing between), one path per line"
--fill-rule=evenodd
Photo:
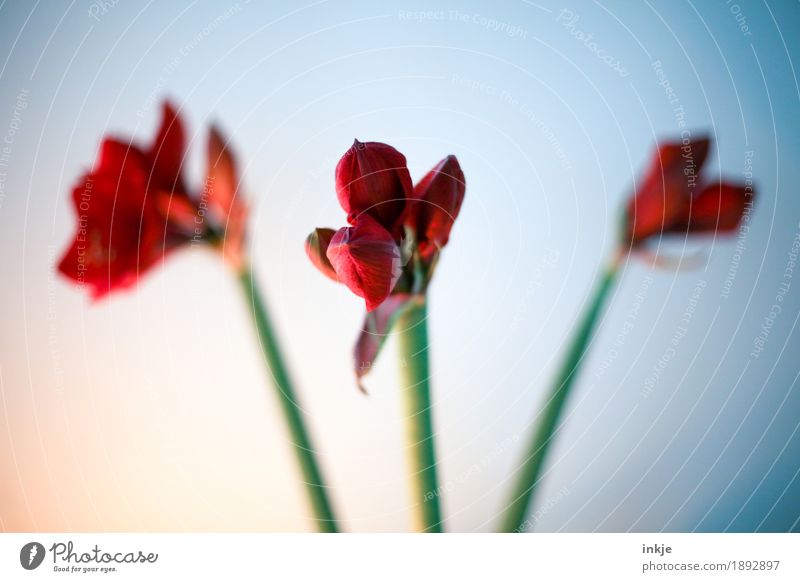
M595 290L594 299L586 308L582 319L575 328L572 343L558 375L550 388L550 393L541 411L541 420L533 433L530 444L518 470L517 482L511 494L511 501L503 515L501 531L521 532L527 529L526 515L533 500L539 476L547 457L548 449L553 442L554 432L558 426L564 404L569 396L575 378L578 375L583 357L592 339L592 332L603 311L606 299L614 287L619 273L619 261L612 264L602 273Z

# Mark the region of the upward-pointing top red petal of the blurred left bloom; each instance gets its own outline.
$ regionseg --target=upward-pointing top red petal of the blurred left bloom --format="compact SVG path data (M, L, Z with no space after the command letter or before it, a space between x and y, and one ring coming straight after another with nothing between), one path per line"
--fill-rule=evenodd
M181 167L186 156L186 130L177 109L168 101L162 104L161 125L149 151L156 186L165 190L184 190Z

